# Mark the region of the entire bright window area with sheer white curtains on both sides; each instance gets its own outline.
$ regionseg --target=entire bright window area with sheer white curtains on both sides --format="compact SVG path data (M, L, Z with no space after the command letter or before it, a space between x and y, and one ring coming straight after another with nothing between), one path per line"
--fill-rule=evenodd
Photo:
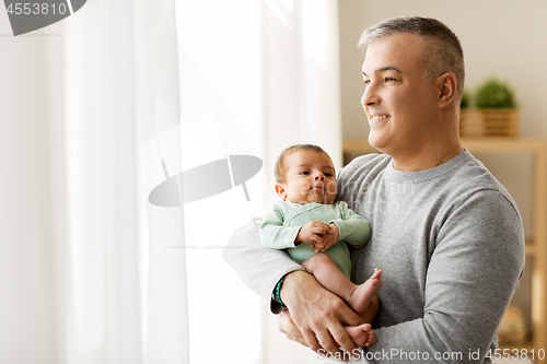
M62 36L60 362L314 362L221 251L275 201L283 148L316 143L341 166L337 2L94 0ZM251 201L236 187L149 202L166 178L237 154L264 161Z

